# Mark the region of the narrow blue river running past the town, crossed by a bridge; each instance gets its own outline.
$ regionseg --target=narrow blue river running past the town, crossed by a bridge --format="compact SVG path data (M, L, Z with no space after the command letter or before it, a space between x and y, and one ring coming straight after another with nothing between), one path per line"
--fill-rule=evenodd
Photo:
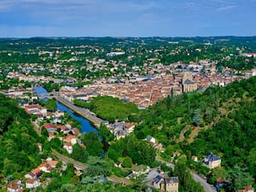
M34 90L37 92L37 94L48 94L47 90L45 90L42 87L35 87ZM98 132L96 128L90 123L88 119L84 119L83 117L80 117L78 114L73 113L72 110L67 108L66 106L62 105L60 102L57 102L57 109L60 111L65 111L67 112L73 119L79 121L82 125L81 132Z

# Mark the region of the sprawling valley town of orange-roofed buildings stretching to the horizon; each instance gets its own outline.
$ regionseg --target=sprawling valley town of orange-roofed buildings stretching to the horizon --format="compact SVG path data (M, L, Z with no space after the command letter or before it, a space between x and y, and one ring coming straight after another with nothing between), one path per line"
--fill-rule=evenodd
M192 130L194 133L204 126L203 123L206 124L207 119L196 117L196 109L190 125L182 123L184 120L181 117L176 118L177 123L174 124L183 127L176 127L177 134L172 131L172 137L166 141L155 133L164 130L165 125L150 125L152 129L156 127L156 131L148 134L140 130L147 123L144 120L127 120L127 115L126 119L109 122L97 117L96 111L80 108L75 101L90 103L98 96L112 96L123 103L135 103L139 112L132 115L142 116L141 113L170 96L200 94L215 86L224 89L232 82L243 82L256 76L256 53L249 52L251 48L245 50L245 46L234 47L232 39L229 39L230 46L223 45L218 38L201 39L202 42L182 38L74 38L72 44L67 43L68 38L43 40L43 43L37 38L1 42L0 93L15 99L19 107L30 115L33 131L38 137L45 138L42 143L34 143L41 156L41 164L25 172L23 177L14 178L12 174L4 177L2 188L10 192L25 189L50 191L56 187L51 184L55 181L54 175L68 175L65 173L68 170L72 170L70 174L73 174L69 179L78 180L73 182L74 185L104 183L102 180L106 179L129 186L143 177L146 191L180 191L184 189L184 180L175 169L182 169L181 162L187 159L187 152L177 147L174 141L185 143L188 142L186 137L195 139L196 136L190 138L191 133L189 135L188 132ZM9 49L4 49L6 45ZM233 66L233 63L236 65ZM49 93L40 97L35 87L44 87ZM94 126L103 140L108 141L108 150L102 151L102 141L97 133L84 134L81 125L70 114L57 109L55 100L68 108L72 107L82 117L96 119ZM216 119L219 117L216 116ZM208 125L215 126L212 121ZM169 126L175 127L172 123ZM107 131L101 133L102 130ZM95 141L90 141L90 137L94 137ZM131 150L123 146L125 143L135 144L135 147ZM117 148L122 151L121 154ZM99 153L96 153L97 149ZM196 167L197 172L186 170L183 174L188 174L189 184L196 185L195 181L201 183L199 185L203 189L196 185L197 191L220 191L228 186L226 178L212 176L215 170L222 171L221 156L224 155L216 149L213 151L198 156L190 153L191 165ZM109 171L90 175L85 168L90 165L90 156L97 156L101 163L101 160L107 159L104 163L108 164L108 158L100 158L102 153L112 160L114 171L111 171L112 174ZM137 155L142 156L137 159ZM211 172L212 185L199 170ZM92 180L85 181L89 176ZM236 190L253 192L252 184L248 182Z

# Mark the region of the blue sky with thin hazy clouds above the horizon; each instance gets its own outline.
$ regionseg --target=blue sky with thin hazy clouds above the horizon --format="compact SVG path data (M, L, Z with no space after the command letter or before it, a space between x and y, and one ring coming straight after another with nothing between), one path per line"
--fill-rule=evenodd
M256 0L0 0L0 38L255 36Z

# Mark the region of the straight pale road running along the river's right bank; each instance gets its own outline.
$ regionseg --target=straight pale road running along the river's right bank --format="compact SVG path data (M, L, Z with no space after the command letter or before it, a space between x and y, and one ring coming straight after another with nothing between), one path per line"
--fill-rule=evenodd
M91 114L90 111L85 110L84 108L79 108L79 107L75 106L73 104L73 102L68 102L66 99L62 98L61 96L55 95L55 99L58 102L61 102L63 105L67 106L67 108L72 109L75 113L79 113L85 119L90 120L97 127L99 127L102 124L103 120L99 119L95 115Z

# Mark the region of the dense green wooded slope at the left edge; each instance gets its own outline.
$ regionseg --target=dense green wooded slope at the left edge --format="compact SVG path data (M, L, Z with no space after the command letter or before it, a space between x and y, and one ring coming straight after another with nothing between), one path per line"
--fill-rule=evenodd
M21 177L41 163L36 143L42 142L30 117L15 100L0 94L0 184L4 177Z

